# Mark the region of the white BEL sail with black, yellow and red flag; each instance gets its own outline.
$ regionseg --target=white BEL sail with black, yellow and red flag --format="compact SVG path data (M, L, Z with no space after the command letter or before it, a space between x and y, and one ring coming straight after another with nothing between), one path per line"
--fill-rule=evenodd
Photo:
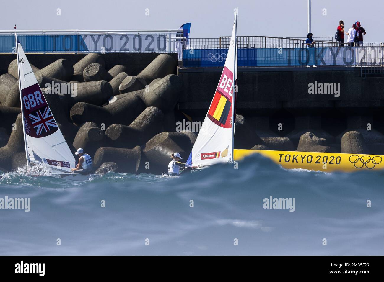
M237 48L236 48L236 21L233 30L227 59L214 98L210 104L199 135L189 159L192 166L206 166L216 163L233 161L233 88L237 79ZM235 73L235 79L233 74Z

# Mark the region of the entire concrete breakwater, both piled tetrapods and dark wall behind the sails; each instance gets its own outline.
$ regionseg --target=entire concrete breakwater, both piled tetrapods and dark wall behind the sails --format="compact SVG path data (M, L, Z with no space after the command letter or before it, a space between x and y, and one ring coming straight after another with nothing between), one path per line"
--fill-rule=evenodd
M198 132L179 125L204 120L220 77L177 71L175 54L27 56L68 145L97 173L158 174L171 153L186 160ZM0 169L11 171L25 165L15 55L0 55L0 74ZM55 88L68 83L75 93ZM357 68L240 70L235 148L384 155L383 86Z

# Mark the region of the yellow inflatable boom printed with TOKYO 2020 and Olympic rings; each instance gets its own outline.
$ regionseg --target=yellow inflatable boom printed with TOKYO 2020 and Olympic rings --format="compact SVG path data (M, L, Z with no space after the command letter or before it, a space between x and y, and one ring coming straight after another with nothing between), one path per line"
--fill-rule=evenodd
M233 157L239 161L255 153L270 158L283 168L303 168L323 172L384 169L384 156L381 155L235 149Z

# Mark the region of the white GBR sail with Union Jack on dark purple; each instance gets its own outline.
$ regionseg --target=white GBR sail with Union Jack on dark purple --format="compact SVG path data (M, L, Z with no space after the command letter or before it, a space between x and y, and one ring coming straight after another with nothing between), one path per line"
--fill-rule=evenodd
M75 167L73 153L51 113L17 35L15 37L27 162L47 165L55 172L71 172Z

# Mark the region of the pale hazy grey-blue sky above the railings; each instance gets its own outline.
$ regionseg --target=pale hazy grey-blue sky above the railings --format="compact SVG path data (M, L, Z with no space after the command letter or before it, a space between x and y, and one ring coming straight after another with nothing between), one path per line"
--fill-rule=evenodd
M2 0L0 30L174 29L191 22L192 38L230 36L238 7L238 35L305 37L307 0ZM383 0L312 0L312 33L334 36L339 20L360 21L364 42L384 42ZM61 16L56 9L61 9ZM146 8L149 16L146 16ZM326 15L323 15L323 9Z

